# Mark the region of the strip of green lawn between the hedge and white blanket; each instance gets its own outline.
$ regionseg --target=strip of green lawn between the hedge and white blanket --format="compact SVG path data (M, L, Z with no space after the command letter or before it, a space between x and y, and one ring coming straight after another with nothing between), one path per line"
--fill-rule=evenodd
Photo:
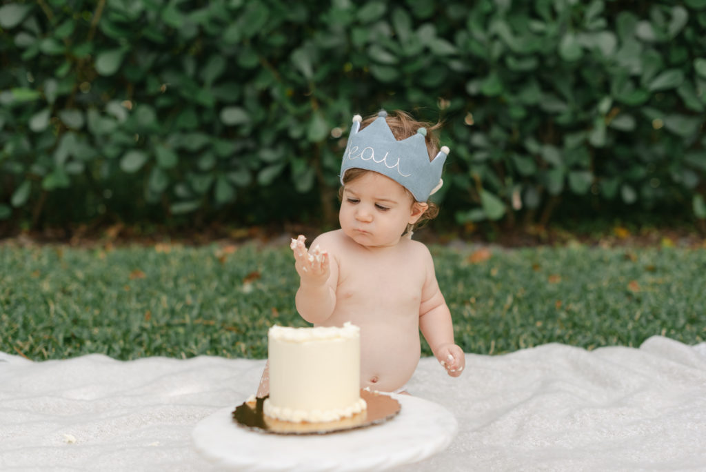
M431 251L456 342L469 353L550 342L639 346L655 334L706 340L704 250L498 249L477 264L470 250ZM33 360L264 358L269 326L306 326L296 287L288 247L3 245L0 351Z

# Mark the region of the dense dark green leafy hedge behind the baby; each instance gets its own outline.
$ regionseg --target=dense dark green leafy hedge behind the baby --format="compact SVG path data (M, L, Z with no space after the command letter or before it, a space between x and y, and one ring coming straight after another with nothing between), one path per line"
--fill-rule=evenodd
M706 218L706 0L14 0L0 28L6 227L331 220L380 107L445 122L459 223Z

